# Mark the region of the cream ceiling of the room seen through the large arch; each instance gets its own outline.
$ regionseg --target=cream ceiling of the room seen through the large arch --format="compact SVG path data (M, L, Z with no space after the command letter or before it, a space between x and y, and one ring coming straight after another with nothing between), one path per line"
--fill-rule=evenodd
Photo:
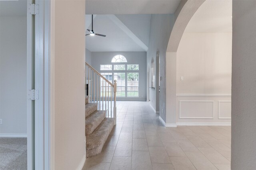
M206 0L189 21L185 32L232 32L232 0Z

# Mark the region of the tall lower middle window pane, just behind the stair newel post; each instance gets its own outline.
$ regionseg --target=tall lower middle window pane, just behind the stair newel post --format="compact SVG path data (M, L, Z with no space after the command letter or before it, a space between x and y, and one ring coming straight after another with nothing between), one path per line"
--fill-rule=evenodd
M116 96L125 97L125 72L115 72L114 80L116 80Z

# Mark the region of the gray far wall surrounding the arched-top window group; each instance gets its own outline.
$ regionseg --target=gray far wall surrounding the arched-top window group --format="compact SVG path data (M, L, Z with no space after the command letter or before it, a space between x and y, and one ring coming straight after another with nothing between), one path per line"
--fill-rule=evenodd
M111 59L115 55L124 55L126 64L139 64L139 97L137 98L117 98L117 100L142 100L147 98L147 70L146 52L92 52L92 67L100 72L100 64L112 64Z

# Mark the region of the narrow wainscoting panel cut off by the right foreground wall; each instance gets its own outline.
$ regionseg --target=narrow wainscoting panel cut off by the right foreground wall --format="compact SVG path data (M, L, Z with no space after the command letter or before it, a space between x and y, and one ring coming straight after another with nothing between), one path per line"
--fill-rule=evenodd
M218 101L218 118L231 119L231 101Z

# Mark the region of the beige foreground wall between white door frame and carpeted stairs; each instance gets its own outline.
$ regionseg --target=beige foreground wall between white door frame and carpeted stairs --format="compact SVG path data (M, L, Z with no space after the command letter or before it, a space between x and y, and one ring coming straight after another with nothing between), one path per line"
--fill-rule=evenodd
M85 1L55 1L55 170L85 161Z

